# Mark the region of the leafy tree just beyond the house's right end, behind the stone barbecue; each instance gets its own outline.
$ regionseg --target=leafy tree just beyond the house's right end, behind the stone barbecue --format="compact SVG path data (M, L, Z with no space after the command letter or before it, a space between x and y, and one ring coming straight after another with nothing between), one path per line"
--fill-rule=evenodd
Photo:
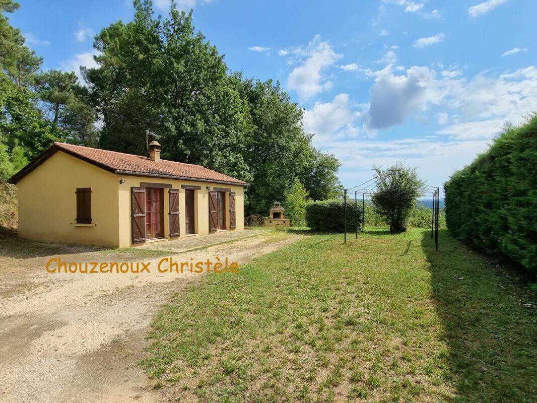
M312 160L310 136L302 129L302 110L279 83L233 76L243 102L243 155L252 174L246 211L265 213Z

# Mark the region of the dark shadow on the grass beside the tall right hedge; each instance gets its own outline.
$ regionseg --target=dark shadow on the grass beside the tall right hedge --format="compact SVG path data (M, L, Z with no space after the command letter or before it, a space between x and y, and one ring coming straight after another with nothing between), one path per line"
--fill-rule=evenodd
M523 305L535 304L535 294L445 229L438 252L427 231L422 247L460 394L456 401L537 401L537 309Z

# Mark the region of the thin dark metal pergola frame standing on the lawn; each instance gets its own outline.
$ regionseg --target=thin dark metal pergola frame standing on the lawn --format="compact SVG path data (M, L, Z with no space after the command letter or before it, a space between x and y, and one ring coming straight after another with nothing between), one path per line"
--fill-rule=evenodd
M362 195L362 222L361 222L361 232L364 232L364 222L365 222L365 198L366 195L371 195L376 190L379 182L386 178L388 175L393 174L393 172L400 172L396 169L388 169L383 171L382 174L375 175L368 181L361 183L359 185L353 186L352 188L343 190L343 198L345 205L345 229L344 229L344 242L347 242L347 193L350 190L354 189L354 210L356 214L356 239L358 239L358 195ZM358 189L357 189L358 188ZM432 208L432 217L431 217L431 239L434 238L434 246L438 250L438 228L439 228L439 211L440 211L440 188L438 186L427 185L426 183L420 184L418 189L421 196L426 196L431 194L433 197L433 208Z

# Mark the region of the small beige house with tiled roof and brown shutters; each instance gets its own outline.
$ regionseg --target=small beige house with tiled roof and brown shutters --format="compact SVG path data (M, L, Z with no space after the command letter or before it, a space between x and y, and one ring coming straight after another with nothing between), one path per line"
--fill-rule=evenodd
M130 247L244 228L248 183L201 167L55 142L11 177L19 236Z

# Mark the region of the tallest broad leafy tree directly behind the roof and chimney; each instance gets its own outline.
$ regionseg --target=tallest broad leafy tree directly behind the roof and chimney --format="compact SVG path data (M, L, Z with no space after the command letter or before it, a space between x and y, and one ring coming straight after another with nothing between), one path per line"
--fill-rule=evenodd
M132 23L97 35L99 67L84 72L103 116L101 145L143 154L150 129L164 158L250 179L241 102L223 56L194 32L192 13L172 8L167 19L154 18L149 0L134 8Z

